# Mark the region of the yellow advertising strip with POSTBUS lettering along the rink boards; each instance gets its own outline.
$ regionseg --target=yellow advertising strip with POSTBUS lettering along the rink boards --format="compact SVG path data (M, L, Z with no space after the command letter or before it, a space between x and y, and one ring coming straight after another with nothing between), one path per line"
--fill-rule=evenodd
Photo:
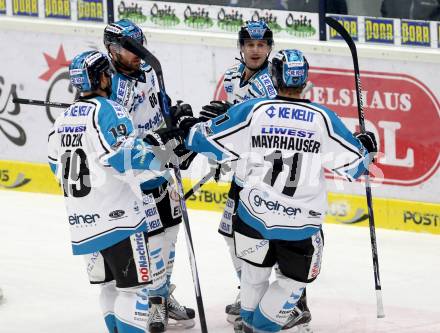
M197 181L184 179L185 191ZM0 161L0 189L61 194L55 177L43 163ZM228 190L229 183L209 182L187 200L188 207L221 212ZM368 226L365 196L330 192L328 203L326 222ZM373 207L379 228L440 234L440 204L375 197Z

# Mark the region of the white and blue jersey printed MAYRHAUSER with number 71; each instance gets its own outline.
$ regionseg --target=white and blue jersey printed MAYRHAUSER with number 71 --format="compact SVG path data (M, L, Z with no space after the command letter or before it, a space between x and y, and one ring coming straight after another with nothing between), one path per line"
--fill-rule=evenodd
M189 149L245 161L237 213L265 239L301 240L321 228L324 168L360 177L367 151L336 114L304 99L254 99L195 125Z

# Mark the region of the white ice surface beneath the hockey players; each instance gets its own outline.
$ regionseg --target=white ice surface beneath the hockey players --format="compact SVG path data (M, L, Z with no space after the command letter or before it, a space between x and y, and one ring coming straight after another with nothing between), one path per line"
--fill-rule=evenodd
M106 333L99 287L71 254L61 196L0 191L1 333ZM220 213L190 211L209 332L233 332L224 307L237 280L217 233ZM326 225L323 267L307 288L315 333L439 333L440 237L377 230L386 318L376 318L367 228ZM173 282L196 307L183 226ZM190 332L199 332L197 324Z

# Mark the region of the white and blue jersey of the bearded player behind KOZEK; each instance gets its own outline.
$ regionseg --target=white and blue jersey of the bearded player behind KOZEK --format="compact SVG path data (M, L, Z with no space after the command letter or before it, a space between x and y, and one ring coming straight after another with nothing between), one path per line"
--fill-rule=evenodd
M138 137L143 138L152 130L165 126L159 99L156 74L151 66L142 63L136 77L115 73L112 77L110 99L125 107L133 121ZM152 189L170 178L167 170L150 172L144 175L146 180L142 189Z

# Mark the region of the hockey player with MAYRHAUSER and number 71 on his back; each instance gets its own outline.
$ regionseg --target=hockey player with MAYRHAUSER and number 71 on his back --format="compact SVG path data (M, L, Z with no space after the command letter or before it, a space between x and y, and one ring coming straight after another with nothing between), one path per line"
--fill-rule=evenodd
M353 180L377 152L372 133L354 136L333 111L301 98L308 63L300 51L279 51L270 73L274 99L249 100L196 125L189 113L175 115L188 149L221 163L246 161L234 222L242 260L237 332L278 332L287 323L320 272L324 168ZM275 264L280 274L269 284Z

